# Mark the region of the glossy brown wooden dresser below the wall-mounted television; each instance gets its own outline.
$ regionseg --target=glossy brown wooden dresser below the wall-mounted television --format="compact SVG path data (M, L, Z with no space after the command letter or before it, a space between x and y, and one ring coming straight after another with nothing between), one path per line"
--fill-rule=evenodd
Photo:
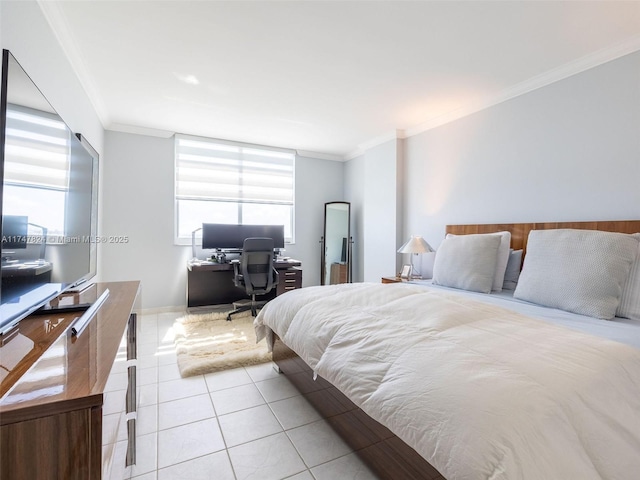
M34 315L0 348L0 478L122 479L125 465L135 463L140 283L99 283L79 301L107 289L79 334L72 330L82 312ZM122 389L108 392L114 379ZM107 413L126 434L103 431Z

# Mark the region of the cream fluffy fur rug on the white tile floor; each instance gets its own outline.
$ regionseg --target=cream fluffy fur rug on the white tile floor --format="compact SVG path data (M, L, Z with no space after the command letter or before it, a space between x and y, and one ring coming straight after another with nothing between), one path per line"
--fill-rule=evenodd
M227 322L226 312L185 315L173 324L182 377L271 361L267 344L256 344L251 312Z

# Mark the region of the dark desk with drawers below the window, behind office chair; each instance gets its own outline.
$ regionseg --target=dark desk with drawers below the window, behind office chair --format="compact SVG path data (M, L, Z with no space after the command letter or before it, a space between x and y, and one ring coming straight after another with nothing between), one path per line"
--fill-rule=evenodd
M270 300L287 290L302 287L302 263L299 260L274 262L280 274L277 287L262 299ZM230 304L249 298L244 288L233 283L233 265L205 261L187 263L187 308Z

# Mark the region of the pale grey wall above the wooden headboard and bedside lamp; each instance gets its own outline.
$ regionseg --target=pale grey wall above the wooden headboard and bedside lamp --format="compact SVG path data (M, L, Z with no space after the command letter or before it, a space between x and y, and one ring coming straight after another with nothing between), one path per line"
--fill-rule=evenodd
M640 52L408 138L405 236L640 218Z

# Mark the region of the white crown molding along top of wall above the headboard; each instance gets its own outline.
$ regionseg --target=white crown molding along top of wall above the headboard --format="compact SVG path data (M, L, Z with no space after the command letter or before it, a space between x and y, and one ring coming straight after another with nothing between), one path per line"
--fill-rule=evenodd
M432 128L445 125L447 123L469 116L473 113L479 112L512 98L516 98L520 95L524 95L539 88L546 87L547 85L551 85L552 83L564 80L565 78L569 78L591 68L603 65L607 62L636 52L638 50L640 50L640 35L635 35L628 41L620 45L598 50L565 65L530 78L529 80L514 85L513 87L507 88L483 102L469 105L464 108L459 108L450 113L433 118L415 127L408 128L406 130L407 137L418 135L420 133L426 132L427 130L431 130Z

